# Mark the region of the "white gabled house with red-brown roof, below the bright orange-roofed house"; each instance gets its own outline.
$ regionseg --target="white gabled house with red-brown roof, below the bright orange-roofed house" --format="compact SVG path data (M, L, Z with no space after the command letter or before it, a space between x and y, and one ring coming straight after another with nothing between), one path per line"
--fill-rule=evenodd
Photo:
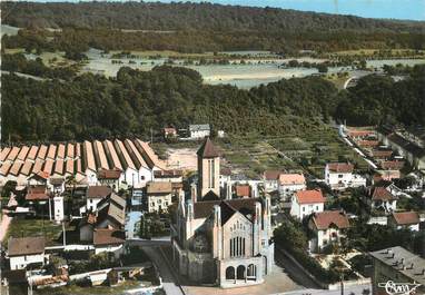
M310 250L320 252L329 244L339 243L345 237L344 232L349 227L349 220L344 212L314 213L308 223L314 233Z

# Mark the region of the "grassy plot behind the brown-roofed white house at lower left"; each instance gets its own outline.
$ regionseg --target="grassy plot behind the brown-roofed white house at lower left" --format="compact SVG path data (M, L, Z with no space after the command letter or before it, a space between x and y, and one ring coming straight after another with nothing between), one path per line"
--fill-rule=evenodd
M13 218L3 240L7 247L9 237L45 236L48 246L60 244L57 242L62 233L62 226L50 220L42 219L18 219Z

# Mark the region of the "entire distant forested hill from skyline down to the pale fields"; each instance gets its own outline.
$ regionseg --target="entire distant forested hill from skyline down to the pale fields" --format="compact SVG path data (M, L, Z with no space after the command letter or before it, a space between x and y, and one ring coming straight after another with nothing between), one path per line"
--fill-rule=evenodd
M103 50L425 49L425 22L210 3L2 2L2 21L26 28L3 47ZM59 30L42 30L55 28Z

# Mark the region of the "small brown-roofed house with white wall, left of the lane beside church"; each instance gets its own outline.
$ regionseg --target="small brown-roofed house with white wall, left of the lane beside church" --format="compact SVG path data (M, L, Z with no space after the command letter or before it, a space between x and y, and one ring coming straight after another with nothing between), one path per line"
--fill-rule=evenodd
M98 228L93 232L95 254L113 253L115 258L123 254L126 234L123 230Z

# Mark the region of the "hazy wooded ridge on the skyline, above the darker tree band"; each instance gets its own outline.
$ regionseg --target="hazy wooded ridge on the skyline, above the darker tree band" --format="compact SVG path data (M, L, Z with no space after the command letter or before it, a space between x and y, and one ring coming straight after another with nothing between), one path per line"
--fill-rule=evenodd
M425 32L425 22L365 19L211 3L4 2L2 21L17 27L135 30Z

